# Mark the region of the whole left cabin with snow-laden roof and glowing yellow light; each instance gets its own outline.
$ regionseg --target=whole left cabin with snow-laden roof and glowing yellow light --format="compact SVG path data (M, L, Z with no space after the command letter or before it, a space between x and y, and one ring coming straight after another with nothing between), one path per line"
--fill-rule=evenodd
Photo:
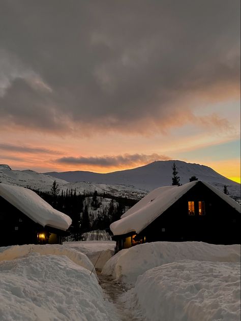
M71 223L35 192L0 183L0 246L61 244Z

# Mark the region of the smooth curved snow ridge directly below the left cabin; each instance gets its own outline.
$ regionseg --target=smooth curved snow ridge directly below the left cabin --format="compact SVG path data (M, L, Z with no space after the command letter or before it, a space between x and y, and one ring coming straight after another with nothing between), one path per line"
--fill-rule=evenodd
M2 260L13 260L22 256L27 256L29 253L39 253L41 255L65 255L71 259L75 264L82 266L83 268L92 271L93 264L89 261L88 257L75 249L70 249L63 245L14 245L0 247L0 262Z

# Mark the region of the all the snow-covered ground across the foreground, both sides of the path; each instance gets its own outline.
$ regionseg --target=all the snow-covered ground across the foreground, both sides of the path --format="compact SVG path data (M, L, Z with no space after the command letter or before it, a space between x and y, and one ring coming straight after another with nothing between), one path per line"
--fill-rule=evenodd
M103 291L88 257L102 253L104 264L114 246L0 248L0 320L240 320L239 245L156 242L122 250L102 270Z

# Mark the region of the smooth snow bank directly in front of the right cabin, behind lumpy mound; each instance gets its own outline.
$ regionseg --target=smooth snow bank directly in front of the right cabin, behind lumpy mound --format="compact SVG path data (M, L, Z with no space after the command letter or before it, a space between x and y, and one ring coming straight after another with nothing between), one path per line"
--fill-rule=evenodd
M239 262L240 245L215 245L203 242L153 242L124 249L109 259L103 274L134 285L145 271L183 259Z

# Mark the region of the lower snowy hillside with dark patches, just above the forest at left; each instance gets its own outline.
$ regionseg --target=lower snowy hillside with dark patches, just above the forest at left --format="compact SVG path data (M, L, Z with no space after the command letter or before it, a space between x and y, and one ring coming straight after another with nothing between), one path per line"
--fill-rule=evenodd
M50 191L53 182L56 180L60 190L75 190L80 194L89 194L97 191L98 194L107 193L113 196L140 199L146 195L146 191L121 184L108 185L89 182L70 183L55 178L48 174L39 173L34 170L12 170L9 165L0 164L0 182L11 185L31 187L41 191Z

